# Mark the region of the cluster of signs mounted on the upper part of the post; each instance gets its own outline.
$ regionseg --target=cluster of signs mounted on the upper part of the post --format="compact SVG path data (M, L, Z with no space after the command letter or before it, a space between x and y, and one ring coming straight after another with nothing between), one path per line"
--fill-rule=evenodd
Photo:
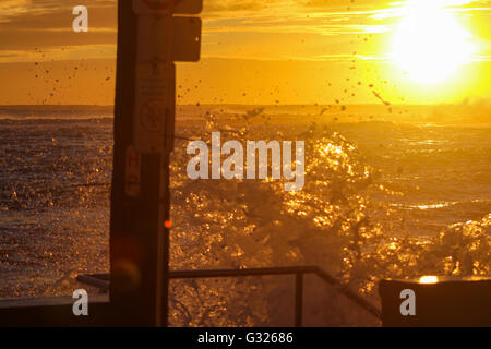
M201 19L171 16L172 9L179 13L195 13L201 1L134 0L137 14L137 65L134 145L142 153L164 153L165 139L170 131L175 104L172 68L175 61L197 61L201 48Z

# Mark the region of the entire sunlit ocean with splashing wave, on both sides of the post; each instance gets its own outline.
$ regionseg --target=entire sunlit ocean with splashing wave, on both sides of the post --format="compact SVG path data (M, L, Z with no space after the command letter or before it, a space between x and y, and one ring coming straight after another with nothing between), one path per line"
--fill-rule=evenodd
M354 111L347 119L322 109L178 108L172 268L318 264L376 302L373 285L380 277L428 270L420 261L402 261L403 252L410 255L405 237L418 249L444 249L446 236L439 234L466 222L481 229L479 239L489 237L482 219L491 213L490 124L395 121L378 118L378 109L363 117ZM77 274L107 273L111 112L103 107L0 108L0 298L70 294ZM272 181L189 180L185 146L190 140L209 142L212 131L242 142L304 140L304 189L287 193ZM388 263L394 244L400 256ZM471 273L489 272L489 260L474 257L478 266ZM454 262L453 269L445 269L445 262L436 272L464 273ZM272 299L290 297L289 280L274 287L268 280L173 282L172 321L280 321L272 314L283 305L273 306ZM217 290L225 289L227 294L219 296ZM207 302L213 311L204 310ZM335 311L330 303L326 309ZM342 317L335 324L356 324L349 320L354 316Z

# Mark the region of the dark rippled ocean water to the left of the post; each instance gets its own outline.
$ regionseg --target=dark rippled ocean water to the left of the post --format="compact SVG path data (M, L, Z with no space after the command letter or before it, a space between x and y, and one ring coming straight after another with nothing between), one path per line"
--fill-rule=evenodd
M0 120L2 298L57 294L107 269L112 120L34 112Z

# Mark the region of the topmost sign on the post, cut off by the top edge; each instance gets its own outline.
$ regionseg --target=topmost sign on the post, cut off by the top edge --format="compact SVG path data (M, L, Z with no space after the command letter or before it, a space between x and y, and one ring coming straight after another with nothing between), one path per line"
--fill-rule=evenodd
M133 11L139 15L168 13L172 5L172 14L199 14L203 0L133 0Z

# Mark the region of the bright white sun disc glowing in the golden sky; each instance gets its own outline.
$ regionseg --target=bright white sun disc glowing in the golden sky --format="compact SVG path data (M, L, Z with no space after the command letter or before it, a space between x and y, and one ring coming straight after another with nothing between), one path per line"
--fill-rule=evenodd
M435 1L409 1L405 10L394 33L392 59L416 82L450 79L475 51L471 34Z

